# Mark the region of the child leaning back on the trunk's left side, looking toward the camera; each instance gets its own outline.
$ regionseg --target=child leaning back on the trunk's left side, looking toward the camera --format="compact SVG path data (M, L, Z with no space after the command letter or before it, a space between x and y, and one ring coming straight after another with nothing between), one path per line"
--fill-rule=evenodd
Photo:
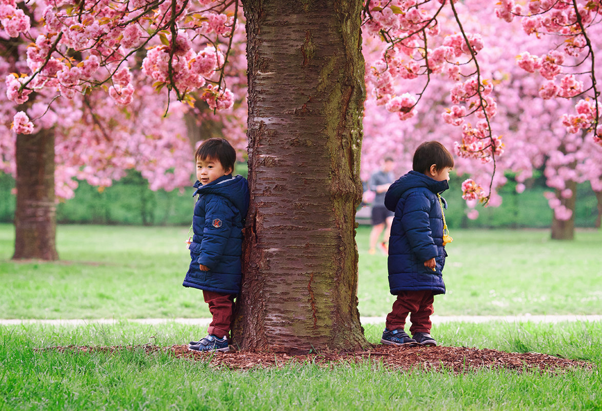
M197 149L199 195L194 206L190 267L185 287L203 290L213 316L208 335L191 341L188 350L229 351L228 334L234 298L240 292L244 218L249 208L249 186L232 177L236 152L228 140L205 140Z

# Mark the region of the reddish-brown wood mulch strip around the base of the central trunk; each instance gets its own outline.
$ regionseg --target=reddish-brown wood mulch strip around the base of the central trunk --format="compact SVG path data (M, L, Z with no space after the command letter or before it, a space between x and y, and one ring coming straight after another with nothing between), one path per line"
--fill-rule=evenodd
M452 370L455 374L476 371L477 369L509 369L517 372L557 373L567 369L591 370L590 362L564 359L540 353L505 353L503 351L467 347L393 347L375 345L367 351L351 353L313 353L291 355L286 353L252 353L231 350L228 353L199 353L189 351L186 345L159 347L158 345L139 345L128 347L51 347L40 350L108 352L134 350L144 348L147 354L159 352L172 354L175 357L193 361L203 361L211 368L229 369L274 369L291 365L311 363L318 366L333 367L349 363L374 362L382 363L389 369L411 371Z

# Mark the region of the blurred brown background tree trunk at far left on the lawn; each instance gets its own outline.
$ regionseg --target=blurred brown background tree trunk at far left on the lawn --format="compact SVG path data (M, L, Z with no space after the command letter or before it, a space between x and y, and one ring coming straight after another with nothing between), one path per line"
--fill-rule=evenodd
M57 260L54 132L17 135L13 259Z

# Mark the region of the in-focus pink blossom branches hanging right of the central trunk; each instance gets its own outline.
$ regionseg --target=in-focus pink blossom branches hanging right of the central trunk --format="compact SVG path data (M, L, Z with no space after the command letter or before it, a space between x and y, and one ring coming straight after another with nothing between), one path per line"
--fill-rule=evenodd
M517 52L518 64L526 71L538 71L545 78L540 98L579 99L574 108L559 113L566 130L569 133L584 130L592 134L595 143L602 144L602 129L598 125L600 93L592 45L592 34L602 19L599 10L600 1L509 0L497 5L367 1L364 7L367 33L388 45L367 67L368 89L377 104L406 120L415 115L416 107L435 79L455 83L450 90L451 104L442 115L447 124L461 130L461 137L454 144L455 152L461 157L491 163L494 173L496 161L504 150L501 133L495 128L498 105L496 93L492 93L499 79L495 78L494 69L483 70L482 54L488 51L488 44L480 29L470 33L467 21L474 13L483 16L495 12L506 22L521 19L526 34L549 46L541 57ZM411 84L408 80L414 79L422 79L421 86L408 86ZM489 201L493 183L492 179L486 192L474 181L467 181L465 198Z

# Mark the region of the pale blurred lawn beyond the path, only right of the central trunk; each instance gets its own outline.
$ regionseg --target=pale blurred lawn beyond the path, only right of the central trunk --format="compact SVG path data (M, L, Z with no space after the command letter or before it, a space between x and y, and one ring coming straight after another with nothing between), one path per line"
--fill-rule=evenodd
M577 231L572 241L549 230L453 230L437 315L602 314L602 231ZM386 257L371 256L358 233L359 310L388 312Z

